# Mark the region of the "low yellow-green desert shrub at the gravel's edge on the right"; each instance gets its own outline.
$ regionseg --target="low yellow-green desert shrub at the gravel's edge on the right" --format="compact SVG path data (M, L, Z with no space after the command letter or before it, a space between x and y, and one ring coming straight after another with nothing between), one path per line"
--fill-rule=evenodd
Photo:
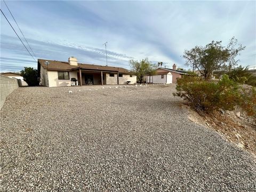
M173 93L189 102L196 111L210 113L213 110L234 110L236 106L243 107L248 114L255 113L255 91L247 94L242 86L234 82L227 75L223 75L221 81L204 81L198 77L183 76L177 80L177 92ZM253 108L254 105L254 108Z

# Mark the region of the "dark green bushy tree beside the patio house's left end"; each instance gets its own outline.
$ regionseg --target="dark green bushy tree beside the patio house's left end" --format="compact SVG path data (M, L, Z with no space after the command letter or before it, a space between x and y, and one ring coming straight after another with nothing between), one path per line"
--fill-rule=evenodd
M20 71L20 74L29 86L37 86L39 84L37 70L33 67L24 67L24 69Z

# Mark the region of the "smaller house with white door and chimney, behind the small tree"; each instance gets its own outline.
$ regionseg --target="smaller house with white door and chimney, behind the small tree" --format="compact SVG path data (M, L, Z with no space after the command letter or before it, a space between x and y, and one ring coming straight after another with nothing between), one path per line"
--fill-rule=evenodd
M182 75L188 75L186 71L177 70L175 63L172 66L172 69L158 67L155 70L154 75L146 76L146 83L165 83L172 84L177 82L177 78L181 78Z

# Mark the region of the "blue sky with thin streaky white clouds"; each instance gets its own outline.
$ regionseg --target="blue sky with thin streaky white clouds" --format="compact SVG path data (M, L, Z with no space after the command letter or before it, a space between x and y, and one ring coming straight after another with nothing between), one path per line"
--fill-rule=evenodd
M256 65L255 1L5 1L35 60L1 13L0 71L37 68L37 59L130 69L129 61L148 58L186 68L182 55L211 41L231 37L246 49L242 66ZM3 1L1 10L29 49ZM34 56L34 54L31 52Z

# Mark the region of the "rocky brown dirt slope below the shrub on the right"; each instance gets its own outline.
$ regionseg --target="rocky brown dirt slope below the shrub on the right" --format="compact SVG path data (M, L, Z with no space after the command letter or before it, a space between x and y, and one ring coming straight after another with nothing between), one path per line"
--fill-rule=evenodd
M249 151L256 157L256 119L247 116L241 109L234 111L214 111L199 115L188 106L190 121L206 125L216 130L222 137L237 147Z

